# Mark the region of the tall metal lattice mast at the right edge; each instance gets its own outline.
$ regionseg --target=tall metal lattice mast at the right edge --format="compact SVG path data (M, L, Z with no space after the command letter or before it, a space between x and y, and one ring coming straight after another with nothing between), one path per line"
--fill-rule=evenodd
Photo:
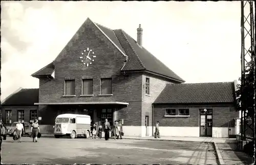
M254 3L255 5L255 3ZM246 130L252 129L253 143L255 144L254 117L252 117L252 126L246 122L246 99L243 92L245 86L245 73L247 64L252 60L255 62L255 25L253 16L253 1L241 1L241 139L246 140ZM254 73L255 75L255 73ZM254 82L255 85L255 82ZM255 108L255 107L254 107ZM255 111L254 111L255 115ZM253 115L253 116L254 116ZM255 129L255 128L254 128Z

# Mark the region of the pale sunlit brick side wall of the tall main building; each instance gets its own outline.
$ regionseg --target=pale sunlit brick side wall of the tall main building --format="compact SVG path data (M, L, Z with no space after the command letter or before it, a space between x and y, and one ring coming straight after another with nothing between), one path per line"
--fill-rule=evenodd
M146 95L145 86L146 78L150 79L150 96ZM149 125L152 126L152 103L159 96L166 84L171 82L165 81L154 76L142 75L142 111L141 111L141 125L145 126L145 115L148 112Z

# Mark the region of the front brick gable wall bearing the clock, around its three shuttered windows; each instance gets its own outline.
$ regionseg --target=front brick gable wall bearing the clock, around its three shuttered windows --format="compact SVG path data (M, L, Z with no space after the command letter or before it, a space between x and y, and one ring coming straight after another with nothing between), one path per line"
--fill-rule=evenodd
M88 22L88 25L90 22ZM79 57L83 50L91 49L95 54L95 61L89 67L84 66ZM55 78L39 80L40 103L65 103L65 102L127 102L129 107L119 111L119 119L125 119L125 125L141 125L141 74L123 75L121 68L125 57L106 41L97 28L91 23L75 40L62 59L55 62ZM82 77L93 78L93 95L82 97ZM113 96L98 96L103 77L112 77ZM75 97L63 97L65 92L65 78L75 78ZM49 119L56 110L50 106L39 106L42 124L53 124ZM54 111L54 112L52 112ZM56 116L51 114L51 116ZM52 117L52 118L54 118ZM47 120L46 120L47 119Z

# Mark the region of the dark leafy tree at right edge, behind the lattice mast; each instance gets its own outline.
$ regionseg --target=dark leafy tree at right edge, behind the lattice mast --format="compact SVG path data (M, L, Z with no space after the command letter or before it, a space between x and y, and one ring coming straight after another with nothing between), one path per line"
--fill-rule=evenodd
M245 70L245 84L244 87L241 87L241 84L238 84L238 90L236 91L236 96L238 98L238 110L241 110L241 102L244 103L246 109L246 115L250 119L254 117L254 60L251 60L246 64ZM241 81L241 78L239 78ZM243 97L241 95L243 94Z

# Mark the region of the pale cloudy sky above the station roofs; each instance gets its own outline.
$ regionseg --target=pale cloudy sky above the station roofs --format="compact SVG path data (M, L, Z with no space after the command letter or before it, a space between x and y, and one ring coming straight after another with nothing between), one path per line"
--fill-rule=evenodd
M1 1L1 100L52 62L82 23L123 29L186 83L241 75L241 7L225 2Z

